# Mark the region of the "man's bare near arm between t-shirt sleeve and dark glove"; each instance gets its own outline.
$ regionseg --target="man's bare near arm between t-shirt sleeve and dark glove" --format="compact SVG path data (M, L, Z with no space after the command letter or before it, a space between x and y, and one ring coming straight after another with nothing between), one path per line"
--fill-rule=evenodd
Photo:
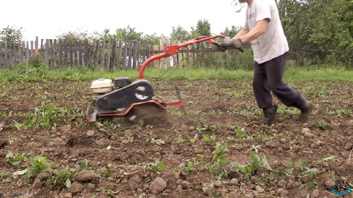
M265 33L267 23L269 22L270 22L270 19L268 18L259 20L257 22L257 25L254 27L254 29L252 29L251 31L249 31L248 29L241 29L241 31L239 31L239 33L237 33L237 36L235 36L234 38L240 38L241 42L243 42L244 44L246 42L255 40L259 38L263 33Z

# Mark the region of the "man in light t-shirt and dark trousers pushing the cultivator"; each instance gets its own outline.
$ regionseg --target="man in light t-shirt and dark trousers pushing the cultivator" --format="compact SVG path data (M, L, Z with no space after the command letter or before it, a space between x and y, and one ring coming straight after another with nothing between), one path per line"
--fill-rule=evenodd
M307 122L315 105L302 94L283 83L285 57L289 51L287 38L280 23L274 0L239 0L248 3L244 28L229 42L220 44L220 51L241 48L251 43L254 53L252 89L265 118L254 124L274 124L277 105L272 104L270 91L287 107L300 109L300 122Z

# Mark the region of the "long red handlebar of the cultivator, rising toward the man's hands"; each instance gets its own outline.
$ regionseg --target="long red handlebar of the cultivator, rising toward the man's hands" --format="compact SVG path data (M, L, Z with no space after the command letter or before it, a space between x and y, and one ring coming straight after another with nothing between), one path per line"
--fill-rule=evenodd
M142 66L140 66L138 79L139 80L144 79L144 69L146 68L146 66L148 66L149 63L151 63L152 61L155 61L157 59L161 59L163 57L170 57L172 55L176 55L177 53L179 53L179 48L182 48L182 47L194 44L194 43L204 42L204 41L207 41L207 43L209 43L209 44L215 44L216 46L220 46L220 44L218 42L215 42L214 40L212 40L213 38L226 38L226 37L223 35L217 35L217 36L211 36L211 37L200 36L200 37L195 38L193 40L189 40L188 42L184 42L181 44L174 44L172 46L166 46L164 48L164 53L161 53L159 55L155 55L155 56L147 59L142 64Z

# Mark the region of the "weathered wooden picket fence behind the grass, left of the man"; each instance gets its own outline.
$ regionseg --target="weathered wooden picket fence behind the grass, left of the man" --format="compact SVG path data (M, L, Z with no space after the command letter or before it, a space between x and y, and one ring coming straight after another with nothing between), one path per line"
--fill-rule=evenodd
M181 42L178 42L181 43ZM0 68L6 69L30 59L40 59L51 68L62 66L90 66L107 70L130 70L142 65L146 59L162 53L165 46L176 42L161 40L159 46L148 42L122 40L105 42L104 40L80 40L71 42L65 39L40 40L31 42L0 43ZM177 63L192 67L219 64L221 60L231 59L235 62L235 51L220 53L213 50L210 44L200 43L181 48L180 53L172 57L159 59L148 67L170 68Z

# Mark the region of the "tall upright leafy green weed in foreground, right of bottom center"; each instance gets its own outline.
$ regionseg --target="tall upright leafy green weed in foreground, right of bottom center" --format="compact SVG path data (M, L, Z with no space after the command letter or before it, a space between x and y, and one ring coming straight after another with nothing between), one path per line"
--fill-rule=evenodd
M216 143L215 145L215 155L213 156L211 162L205 165L205 168L208 172L215 176L218 180L221 178L226 178L228 176L228 171L224 168L226 163L228 162L228 158L224 158L224 152L227 152L227 145L224 143Z

